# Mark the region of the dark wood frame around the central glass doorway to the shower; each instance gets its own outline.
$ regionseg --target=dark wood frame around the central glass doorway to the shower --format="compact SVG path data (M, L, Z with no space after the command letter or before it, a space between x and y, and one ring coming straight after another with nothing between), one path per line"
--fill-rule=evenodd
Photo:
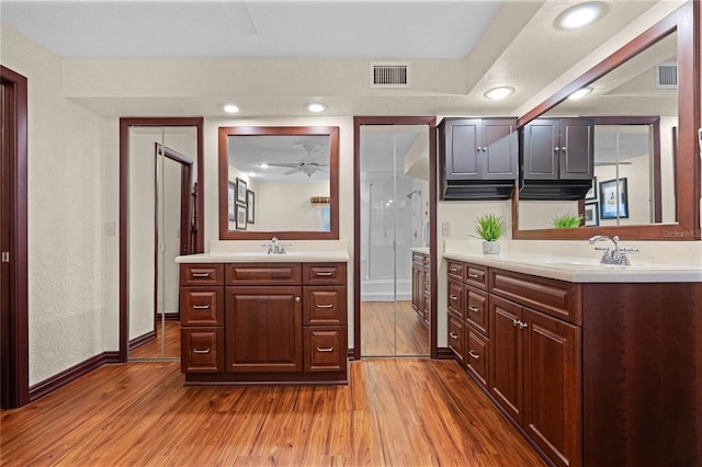
M437 117L354 116L353 117L353 360L361 360L361 126L428 125L429 129L429 270L431 312L429 357L437 348Z

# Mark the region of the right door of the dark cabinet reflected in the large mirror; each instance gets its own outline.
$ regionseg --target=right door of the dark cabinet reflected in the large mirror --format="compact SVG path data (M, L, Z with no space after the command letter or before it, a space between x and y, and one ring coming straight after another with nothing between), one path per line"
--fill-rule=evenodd
M595 124L589 118L561 121L559 178L590 180L595 172Z

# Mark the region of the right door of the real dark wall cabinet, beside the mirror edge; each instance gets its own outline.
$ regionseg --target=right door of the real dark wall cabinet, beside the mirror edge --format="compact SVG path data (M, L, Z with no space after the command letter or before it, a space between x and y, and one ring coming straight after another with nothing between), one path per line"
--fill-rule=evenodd
M518 152L514 118L483 119L483 150L478 157L478 167L484 179L516 179Z

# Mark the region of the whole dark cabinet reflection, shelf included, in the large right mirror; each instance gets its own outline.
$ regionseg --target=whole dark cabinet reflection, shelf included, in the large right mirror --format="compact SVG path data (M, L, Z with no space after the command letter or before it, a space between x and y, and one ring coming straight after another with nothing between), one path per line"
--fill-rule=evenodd
M592 118L536 118L522 130L521 200L581 200L595 167Z

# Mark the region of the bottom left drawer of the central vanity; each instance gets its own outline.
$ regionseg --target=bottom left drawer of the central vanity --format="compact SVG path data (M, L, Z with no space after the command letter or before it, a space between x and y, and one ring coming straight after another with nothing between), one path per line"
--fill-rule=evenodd
M224 328L181 328L182 373L224 372Z

